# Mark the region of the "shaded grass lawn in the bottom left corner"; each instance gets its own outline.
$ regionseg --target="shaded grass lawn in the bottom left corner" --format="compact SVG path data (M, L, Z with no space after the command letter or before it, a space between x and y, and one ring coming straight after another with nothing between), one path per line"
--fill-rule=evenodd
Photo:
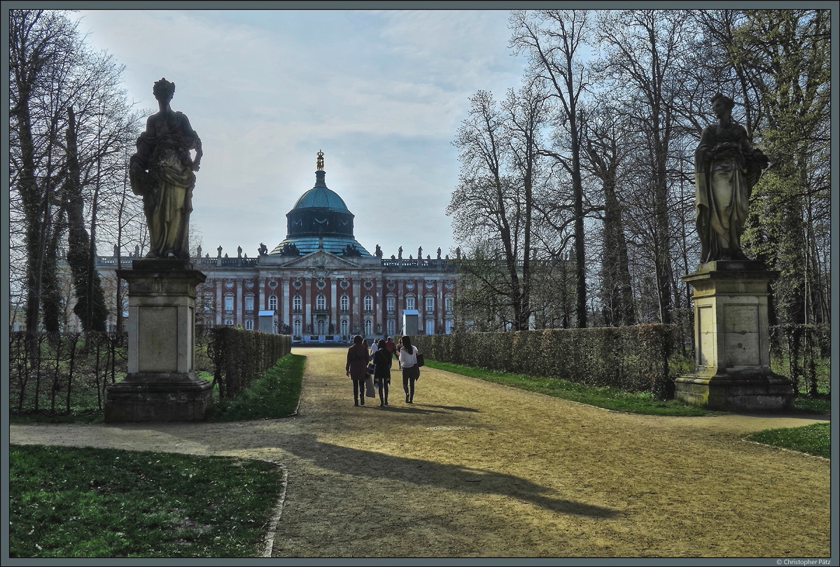
M254 557L281 491L257 460L12 445L11 557Z

